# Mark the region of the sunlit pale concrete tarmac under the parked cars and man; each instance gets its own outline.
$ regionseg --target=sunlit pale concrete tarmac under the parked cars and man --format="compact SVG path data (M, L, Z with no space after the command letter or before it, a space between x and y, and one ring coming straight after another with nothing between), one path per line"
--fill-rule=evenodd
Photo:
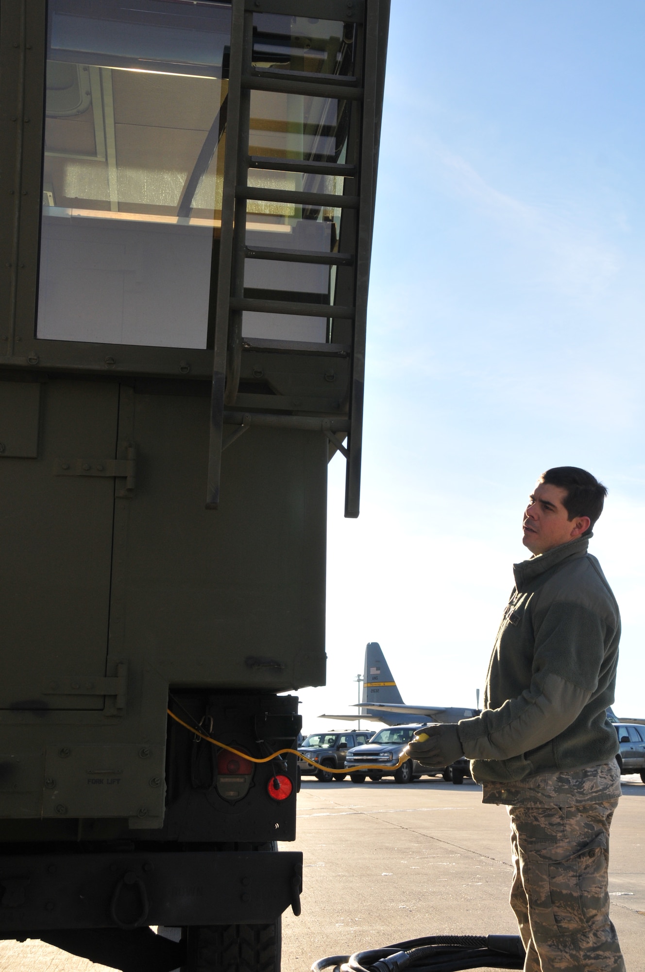
M628 972L645 972L645 785L624 778L610 893ZM298 797L302 915L283 919L283 970L432 934L515 934L508 817L481 788L424 778L319 783ZM109 972L39 941L0 942L0 972Z

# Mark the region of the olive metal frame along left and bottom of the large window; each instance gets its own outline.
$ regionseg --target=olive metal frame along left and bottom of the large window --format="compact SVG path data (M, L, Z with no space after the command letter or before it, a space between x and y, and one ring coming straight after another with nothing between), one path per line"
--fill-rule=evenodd
M9 333L0 334L0 365L123 375L210 379L212 348L103 344L36 336L45 142L46 0L2 5L0 84L7 113L0 121L0 220L13 232L0 239L0 307ZM17 47L12 38L19 37ZM21 112L15 110L21 108ZM18 127L17 117L22 116ZM210 318L209 311L209 318Z

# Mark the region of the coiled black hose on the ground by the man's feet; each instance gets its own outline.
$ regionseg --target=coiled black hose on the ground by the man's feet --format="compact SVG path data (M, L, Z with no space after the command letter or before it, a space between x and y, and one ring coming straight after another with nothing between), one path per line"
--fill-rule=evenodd
M517 935L429 935L387 949L319 958L311 972L458 972L459 969L522 969L525 950Z

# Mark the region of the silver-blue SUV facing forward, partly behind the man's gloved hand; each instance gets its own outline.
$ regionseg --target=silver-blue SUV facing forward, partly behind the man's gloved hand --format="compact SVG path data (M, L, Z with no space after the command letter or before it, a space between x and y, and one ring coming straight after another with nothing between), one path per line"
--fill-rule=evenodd
M350 771L352 782L362 783L367 777L370 780L381 780L383 777L391 776L397 783L409 783L413 780L419 780L420 777L437 776L443 776L444 780L452 779L453 782L463 782L465 768L461 768L460 764L454 776L450 767L422 766L416 759L408 759L397 770L393 769L405 747L412 741L414 734L423 729L426 724L423 722L381 729L366 746L356 746L355 749L350 750L345 759L345 767ZM360 766L364 763L376 763L379 769L361 771ZM381 766L383 766L383 769L381 769Z

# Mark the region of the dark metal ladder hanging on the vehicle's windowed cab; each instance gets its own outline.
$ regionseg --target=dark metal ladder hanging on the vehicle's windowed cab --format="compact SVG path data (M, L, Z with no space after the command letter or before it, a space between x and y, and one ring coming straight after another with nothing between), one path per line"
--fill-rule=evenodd
M320 17L356 24L356 76L255 69L253 59L254 14ZM351 322L351 376L348 419L338 417L281 416L281 426L320 428L347 460L345 516L359 509L360 460L365 369L367 290L372 242L374 194L380 136L380 105L385 77L387 24L390 0L232 0L230 70L224 179L221 204L221 250L216 305L215 352L211 398L206 506L220 502L221 451L224 421L240 424L235 413L224 412L235 404L242 356L242 314L259 311L297 314ZM300 161L249 155L252 90L347 99L352 104L354 138L348 141L348 158L340 162ZM248 186L250 168L298 172L309 175L351 177L352 194L271 190ZM347 186L347 182L344 184ZM341 228L342 253L276 250L246 245L247 202L250 199L351 210L355 219ZM344 221L345 223L346 221ZM349 245L348 245L349 244ZM343 304L305 303L296 300L251 299L244 295L245 259L287 260L343 267L342 291L351 295ZM336 294L338 294L338 287ZM319 345L323 348L323 345ZM255 416L245 415L245 422ZM256 416L262 425L270 416ZM304 424L303 424L304 419ZM278 420L278 416L276 416ZM320 425L316 423L320 422ZM348 435L347 446L337 432ZM235 434L233 434L235 435ZM229 437L232 439L232 436ZM224 441L224 446L227 440Z

